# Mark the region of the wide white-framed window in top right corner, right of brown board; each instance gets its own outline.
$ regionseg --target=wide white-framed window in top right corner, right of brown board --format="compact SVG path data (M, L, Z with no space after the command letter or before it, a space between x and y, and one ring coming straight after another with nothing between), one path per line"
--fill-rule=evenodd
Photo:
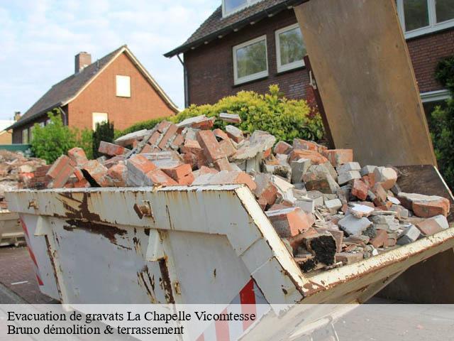
M454 26L454 0L397 0L406 38Z

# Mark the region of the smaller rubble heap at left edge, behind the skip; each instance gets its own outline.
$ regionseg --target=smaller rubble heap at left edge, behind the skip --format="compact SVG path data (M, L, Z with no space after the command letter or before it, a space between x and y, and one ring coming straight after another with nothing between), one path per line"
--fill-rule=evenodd
M26 158L21 153L0 150L0 209L6 209L4 194L9 190L31 185L33 172L45 161L40 158Z

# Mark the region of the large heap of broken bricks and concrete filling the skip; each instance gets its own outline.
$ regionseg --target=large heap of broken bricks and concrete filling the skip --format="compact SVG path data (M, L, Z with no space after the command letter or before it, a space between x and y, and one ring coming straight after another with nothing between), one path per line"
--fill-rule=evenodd
M224 115L236 123L236 115ZM363 166L351 149L311 141L280 141L264 131L213 129L214 119L101 142L105 156L87 160L73 148L40 168L38 188L245 184L304 272L352 264L448 228L443 197L402 193L398 171Z

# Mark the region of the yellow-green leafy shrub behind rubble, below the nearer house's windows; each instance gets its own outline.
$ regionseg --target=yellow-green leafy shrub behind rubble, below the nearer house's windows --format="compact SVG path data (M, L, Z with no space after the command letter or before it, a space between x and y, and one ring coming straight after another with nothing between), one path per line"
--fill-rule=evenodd
M241 91L235 96L224 97L216 104L191 105L174 117L168 117L175 123L189 117L206 115L216 117L215 126L223 128L224 121L218 119L221 112L239 114L241 123L238 128L243 131L268 131L280 141L291 142L294 138L319 141L323 137L323 124L318 113L314 112L304 100L287 99L279 92L277 85L270 86L267 94L252 91ZM126 131L151 129L162 121L153 120L135 124ZM134 127L134 129L132 129ZM123 131L125 133L125 131ZM126 133L125 133L126 134Z

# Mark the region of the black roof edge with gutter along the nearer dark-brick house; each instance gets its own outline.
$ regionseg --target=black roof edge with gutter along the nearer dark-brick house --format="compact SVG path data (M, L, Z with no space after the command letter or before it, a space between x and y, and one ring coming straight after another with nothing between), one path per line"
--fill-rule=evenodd
M186 52L190 48L203 44L206 40L212 40L213 38L217 38L219 35L224 35L225 33L229 33L231 31L233 31L233 28L244 27L244 26L248 25L248 23L250 23L250 21L258 21L261 18L268 16L268 14L270 12L282 10L284 8L288 8L289 6L298 6L307 1L309 1L309 0L287 0L280 4L276 4L275 6L269 7L267 9L264 9L263 11L255 13L253 16L248 16L248 18L244 18L243 20L237 21L236 23L232 23L231 25L229 25L225 28L222 28L221 30L214 31L213 33L210 33L209 35L206 35L202 38L194 40L192 43L179 45L179 47L171 50L170 52L165 53L164 57L172 58L173 56L178 55L179 53Z

